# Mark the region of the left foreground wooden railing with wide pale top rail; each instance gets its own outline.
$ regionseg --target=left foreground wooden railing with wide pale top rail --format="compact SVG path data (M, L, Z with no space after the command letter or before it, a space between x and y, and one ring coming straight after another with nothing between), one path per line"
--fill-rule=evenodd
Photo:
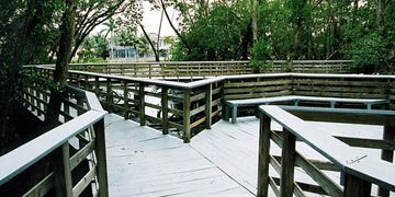
M45 86L33 83L23 90L20 100L43 119L49 94ZM109 196L105 111L93 93L69 86L64 96L60 126L0 158L0 190L1 187L11 189L15 196L44 196L47 193L50 196L79 196L81 193ZM45 163L50 166L46 169ZM75 171L81 172L81 169L83 174L76 176ZM26 176L36 177L32 187L27 190L14 188L15 182Z

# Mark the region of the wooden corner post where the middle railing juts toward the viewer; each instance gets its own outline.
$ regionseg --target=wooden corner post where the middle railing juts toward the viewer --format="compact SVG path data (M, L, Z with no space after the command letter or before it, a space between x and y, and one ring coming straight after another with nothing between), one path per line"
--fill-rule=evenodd
M183 141L190 142L191 139L191 90L183 90Z

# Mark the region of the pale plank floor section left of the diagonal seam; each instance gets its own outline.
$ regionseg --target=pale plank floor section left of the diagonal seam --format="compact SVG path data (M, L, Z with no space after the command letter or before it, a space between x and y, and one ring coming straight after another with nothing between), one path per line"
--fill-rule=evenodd
M105 117L110 196L252 196L182 140Z

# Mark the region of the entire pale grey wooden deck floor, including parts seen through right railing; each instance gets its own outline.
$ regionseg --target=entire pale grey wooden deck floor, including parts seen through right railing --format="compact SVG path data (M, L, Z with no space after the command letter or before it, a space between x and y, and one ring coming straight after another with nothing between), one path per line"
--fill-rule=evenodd
M326 124L332 128L332 135L371 139L380 139L382 135L379 126L316 124ZM256 117L239 118L237 124L221 120L211 130L193 137L190 143L113 114L105 117L105 126L110 196L255 196L257 193L259 120ZM306 146L300 144L297 149L305 157L320 158ZM371 154L380 158L379 151ZM339 173L327 175L334 179L340 176ZM304 172L295 172L295 176L312 182Z

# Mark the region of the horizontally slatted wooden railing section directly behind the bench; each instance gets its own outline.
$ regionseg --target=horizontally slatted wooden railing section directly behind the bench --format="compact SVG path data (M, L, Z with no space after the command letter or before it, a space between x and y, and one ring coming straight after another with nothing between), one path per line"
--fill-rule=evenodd
M224 77L224 99L281 95L388 100L395 108L395 77L364 74L275 73Z

